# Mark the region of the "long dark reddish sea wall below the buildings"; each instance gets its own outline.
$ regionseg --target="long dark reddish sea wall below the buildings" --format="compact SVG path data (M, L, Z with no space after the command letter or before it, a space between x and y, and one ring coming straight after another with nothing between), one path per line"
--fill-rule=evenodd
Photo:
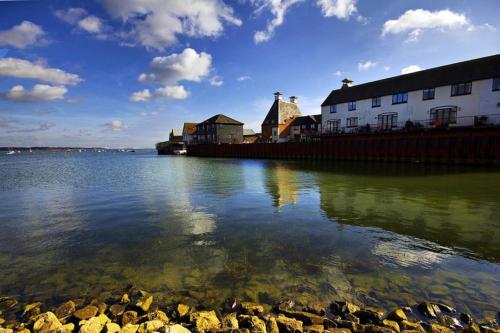
M318 142L190 145L200 157L500 165L500 127L322 137Z

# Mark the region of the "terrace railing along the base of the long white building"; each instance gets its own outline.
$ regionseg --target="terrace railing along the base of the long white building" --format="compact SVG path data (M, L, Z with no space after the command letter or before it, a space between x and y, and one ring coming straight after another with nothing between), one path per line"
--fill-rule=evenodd
M488 114L480 116L456 117L452 121L446 120L405 120L387 123L368 123L358 126L341 126L337 130L325 128L322 135L343 135L358 133L378 133L393 131L415 131L429 128L451 128L451 127L490 127L500 126L500 114Z

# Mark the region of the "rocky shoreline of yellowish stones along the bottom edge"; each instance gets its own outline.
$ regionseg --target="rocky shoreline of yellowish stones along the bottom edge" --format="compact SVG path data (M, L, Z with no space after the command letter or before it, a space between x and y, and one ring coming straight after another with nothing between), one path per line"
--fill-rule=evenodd
M500 327L496 318L477 322L467 313L430 302L387 314L344 301L325 306L286 300L270 307L229 299L218 309L196 309L182 303L162 307L153 295L131 287L121 296L68 300L54 308L1 297L0 333L14 332L500 333Z

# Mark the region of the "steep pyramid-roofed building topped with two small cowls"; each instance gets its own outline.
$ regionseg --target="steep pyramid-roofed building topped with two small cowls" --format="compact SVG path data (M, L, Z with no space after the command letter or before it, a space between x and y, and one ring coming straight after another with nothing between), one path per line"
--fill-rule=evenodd
M289 126L295 117L300 116L297 97L290 97L290 102L283 100L283 94L274 93L274 103L262 123L262 140L264 142L286 142Z

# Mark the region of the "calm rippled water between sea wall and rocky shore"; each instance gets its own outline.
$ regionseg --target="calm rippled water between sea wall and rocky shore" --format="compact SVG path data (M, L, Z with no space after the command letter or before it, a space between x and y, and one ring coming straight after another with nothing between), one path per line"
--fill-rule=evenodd
M500 304L500 170L0 155L0 295Z

